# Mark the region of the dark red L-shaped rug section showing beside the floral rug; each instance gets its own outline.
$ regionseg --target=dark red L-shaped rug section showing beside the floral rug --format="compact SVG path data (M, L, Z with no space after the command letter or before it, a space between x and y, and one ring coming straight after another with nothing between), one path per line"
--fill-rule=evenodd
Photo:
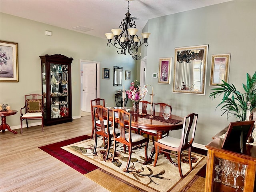
M61 147L67 146L76 142L80 142L83 140L89 139L90 136L84 135L79 136L76 138L68 139L65 141L45 145L42 147L39 147L44 152L50 154L51 156L55 157L56 159L62 161L63 163L67 164L71 168L77 170L81 174L86 174L88 172L91 172L98 168L98 166L95 166L94 164L72 154L67 152L66 150L62 149Z

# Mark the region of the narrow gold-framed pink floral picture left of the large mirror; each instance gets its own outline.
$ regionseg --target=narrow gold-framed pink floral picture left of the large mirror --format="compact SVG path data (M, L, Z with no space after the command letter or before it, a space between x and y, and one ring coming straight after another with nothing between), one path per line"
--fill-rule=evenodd
M159 58L158 84L170 84L171 68L172 68L172 57Z

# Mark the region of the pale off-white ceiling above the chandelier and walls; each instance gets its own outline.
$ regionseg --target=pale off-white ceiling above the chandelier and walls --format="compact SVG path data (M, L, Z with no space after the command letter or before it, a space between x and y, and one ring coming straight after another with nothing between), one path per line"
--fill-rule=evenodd
M129 12L138 18L139 34L149 19L227 1L130 0ZM127 4L127 0L0 0L0 12L106 38L104 34L125 18Z

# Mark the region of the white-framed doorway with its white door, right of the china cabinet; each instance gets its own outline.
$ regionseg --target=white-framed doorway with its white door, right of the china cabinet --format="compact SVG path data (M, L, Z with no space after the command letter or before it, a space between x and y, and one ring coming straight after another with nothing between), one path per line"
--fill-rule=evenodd
M100 62L80 60L81 111L91 112L90 101L100 97Z

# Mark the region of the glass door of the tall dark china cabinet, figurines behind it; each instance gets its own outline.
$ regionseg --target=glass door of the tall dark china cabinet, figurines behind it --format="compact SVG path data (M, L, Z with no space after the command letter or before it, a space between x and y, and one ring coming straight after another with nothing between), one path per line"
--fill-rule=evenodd
M68 112L68 66L50 63L51 118L64 118Z

